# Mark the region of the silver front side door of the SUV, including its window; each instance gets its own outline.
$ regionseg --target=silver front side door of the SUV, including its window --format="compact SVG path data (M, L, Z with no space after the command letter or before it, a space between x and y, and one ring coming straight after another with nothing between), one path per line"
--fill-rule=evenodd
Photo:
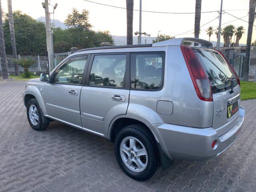
M67 60L44 90L48 116L76 128L82 128L79 101L87 59L88 56L74 56Z

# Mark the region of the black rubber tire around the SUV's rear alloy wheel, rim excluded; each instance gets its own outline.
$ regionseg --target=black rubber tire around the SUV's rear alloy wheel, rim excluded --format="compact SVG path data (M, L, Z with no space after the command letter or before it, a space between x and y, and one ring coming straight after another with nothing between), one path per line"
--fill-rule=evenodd
M140 132L142 133L142 132ZM143 134L143 133L142 133ZM136 179L136 180L147 180L148 178L150 178L151 176L154 175L154 173L156 172L155 170L155 166L157 164L157 161L155 160L156 158L156 151L152 150L152 142L150 141L150 138L148 138L146 135L142 136L142 134L138 133L138 130L134 130L133 127L126 127L124 129L122 129L118 135L116 136L116 140L115 140L115 156L116 156L116 160L119 164L119 166L122 168L122 170L130 177ZM148 154L148 164L145 170L143 170L142 172L134 172L132 170L130 170L123 162L121 155L120 155L120 144L122 142L122 140L128 136L132 136L136 139L138 139L140 142L142 142L142 144L144 145L144 147L146 148L146 152ZM151 145L150 143L151 142Z

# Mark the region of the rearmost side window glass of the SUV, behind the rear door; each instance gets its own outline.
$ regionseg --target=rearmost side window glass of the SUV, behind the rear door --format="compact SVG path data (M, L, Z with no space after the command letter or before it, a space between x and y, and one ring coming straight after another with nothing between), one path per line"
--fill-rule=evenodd
M131 88L157 90L162 87L164 54L131 54Z

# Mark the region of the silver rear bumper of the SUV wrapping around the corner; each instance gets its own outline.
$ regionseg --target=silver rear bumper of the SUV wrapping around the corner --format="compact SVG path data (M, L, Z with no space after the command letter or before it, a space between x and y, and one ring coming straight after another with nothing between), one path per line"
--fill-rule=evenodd
M148 125L156 140L170 159L207 160L226 150L240 134L244 122L244 108L239 109L238 122L222 136L213 128L191 128L172 124ZM217 146L212 149L212 142Z

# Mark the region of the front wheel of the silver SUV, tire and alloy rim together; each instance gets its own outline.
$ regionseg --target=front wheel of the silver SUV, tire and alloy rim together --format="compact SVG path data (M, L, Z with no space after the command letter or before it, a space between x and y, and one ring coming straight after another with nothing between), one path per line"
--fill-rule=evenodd
M28 122L29 122L30 126L34 130L41 131L41 130L46 129L49 126L49 123L43 123L43 121L42 121L42 113L40 111L40 106L39 106L36 98L32 98L28 101L27 117L28 117Z

